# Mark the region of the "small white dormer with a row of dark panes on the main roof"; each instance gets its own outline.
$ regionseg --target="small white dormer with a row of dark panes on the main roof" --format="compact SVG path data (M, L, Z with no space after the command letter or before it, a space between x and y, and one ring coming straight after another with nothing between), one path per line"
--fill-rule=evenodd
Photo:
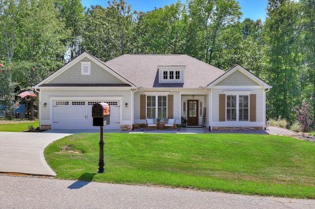
M184 83L186 66L158 66L159 83Z

